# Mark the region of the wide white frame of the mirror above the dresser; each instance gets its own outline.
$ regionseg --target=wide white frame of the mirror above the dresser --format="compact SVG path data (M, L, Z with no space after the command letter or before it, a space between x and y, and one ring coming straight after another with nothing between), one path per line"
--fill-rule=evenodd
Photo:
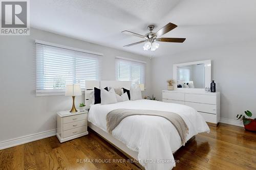
M173 65L173 79L174 83L174 90L186 90L186 91L204 91L204 88L177 88L177 67L178 66L186 66L186 65L194 65L194 64L204 64L204 86L210 87L211 82L211 60L203 60L203 61L195 61L189 63L180 63Z

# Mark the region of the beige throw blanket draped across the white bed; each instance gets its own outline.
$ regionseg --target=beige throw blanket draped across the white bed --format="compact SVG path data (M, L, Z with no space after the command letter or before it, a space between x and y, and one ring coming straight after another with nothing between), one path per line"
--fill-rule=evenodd
M170 123L174 125L177 129L181 143L184 145L186 143L186 136L188 134L188 127L182 117L173 112L166 111L155 111L155 110L134 110L134 109L116 109L112 110L106 115L106 128L111 134L112 131L117 127L117 125L122 121L123 118L132 115L152 115L161 116L169 120Z

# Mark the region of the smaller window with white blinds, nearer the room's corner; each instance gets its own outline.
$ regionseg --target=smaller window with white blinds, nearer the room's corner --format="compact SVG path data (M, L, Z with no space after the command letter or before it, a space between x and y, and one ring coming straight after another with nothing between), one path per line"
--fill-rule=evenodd
M145 63L116 58L116 80L145 84Z

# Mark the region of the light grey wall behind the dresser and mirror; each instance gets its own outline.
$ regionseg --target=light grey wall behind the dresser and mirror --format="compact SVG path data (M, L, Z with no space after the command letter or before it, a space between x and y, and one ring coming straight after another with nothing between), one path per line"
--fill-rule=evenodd
M166 80L173 77L173 64L212 60L211 79L221 91L221 117L236 119L244 110L256 116L256 42L239 42L226 46L189 51L152 59L152 93L162 98ZM210 85L210 82L209 82Z

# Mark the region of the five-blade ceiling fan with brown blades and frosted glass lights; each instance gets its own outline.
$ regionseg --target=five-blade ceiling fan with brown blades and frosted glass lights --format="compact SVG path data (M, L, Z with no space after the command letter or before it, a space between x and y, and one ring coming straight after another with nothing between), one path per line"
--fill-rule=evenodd
M149 50L151 49L151 51L155 51L158 47L159 47L159 43L157 43L156 41L160 41L160 42L184 42L186 38L159 38L161 35L164 35L165 33L172 31L173 29L175 29L176 26L174 23L167 23L166 26L164 26L163 28L161 28L160 30L158 30L156 33L152 32L155 28L154 25L150 25L147 28L150 30L149 33L145 34L145 35L141 35L141 34L137 34L131 31L122 31L122 33L125 34L129 34L129 35L133 35L136 37L140 37L140 38L144 38L145 40L143 41L138 41L132 44L128 44L128 45L124 45L125 47L128 46L132 46L132 45L136 45L136 44L140 44L142 42L146 42L143 46L144 50Z

